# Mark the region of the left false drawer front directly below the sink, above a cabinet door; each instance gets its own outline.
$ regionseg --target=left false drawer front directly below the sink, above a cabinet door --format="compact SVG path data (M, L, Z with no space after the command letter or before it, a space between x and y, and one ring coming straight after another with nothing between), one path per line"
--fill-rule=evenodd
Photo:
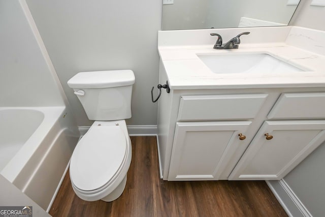
M254 118L267 94L182 96L178 121Z

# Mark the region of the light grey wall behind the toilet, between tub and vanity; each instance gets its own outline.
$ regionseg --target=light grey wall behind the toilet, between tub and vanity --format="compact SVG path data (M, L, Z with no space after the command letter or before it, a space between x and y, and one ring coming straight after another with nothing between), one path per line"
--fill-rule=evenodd
M71 104L78 126L90 126L67 81L78 72L131 69L135 72L128 125L156 125L157 32L162 1L26 1Z

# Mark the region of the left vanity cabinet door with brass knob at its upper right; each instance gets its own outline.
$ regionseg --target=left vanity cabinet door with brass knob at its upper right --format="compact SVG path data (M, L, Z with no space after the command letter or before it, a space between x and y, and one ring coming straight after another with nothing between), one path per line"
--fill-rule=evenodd
M218 180L250 123L177 122L168 180Z

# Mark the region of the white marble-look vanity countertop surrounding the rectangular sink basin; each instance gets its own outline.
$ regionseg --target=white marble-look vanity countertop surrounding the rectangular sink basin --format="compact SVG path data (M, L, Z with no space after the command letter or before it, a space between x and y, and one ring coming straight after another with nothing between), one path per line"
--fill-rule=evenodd
M325 87L325 56L288 45L285 42L242 43L239 45L239 49L230 50L213 49L213 44L188 46L159 45L158 51L171 89ZM254 74L216 74L211 72L197 56L197 54L202 53L212 55L267 53L306 71L269 74L263 72Z

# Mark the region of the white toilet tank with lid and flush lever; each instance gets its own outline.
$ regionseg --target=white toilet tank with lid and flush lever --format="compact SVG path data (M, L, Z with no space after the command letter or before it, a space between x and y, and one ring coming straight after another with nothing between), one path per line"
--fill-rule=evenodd
M132 70L80 72L68 81L89 120L131 117Z

